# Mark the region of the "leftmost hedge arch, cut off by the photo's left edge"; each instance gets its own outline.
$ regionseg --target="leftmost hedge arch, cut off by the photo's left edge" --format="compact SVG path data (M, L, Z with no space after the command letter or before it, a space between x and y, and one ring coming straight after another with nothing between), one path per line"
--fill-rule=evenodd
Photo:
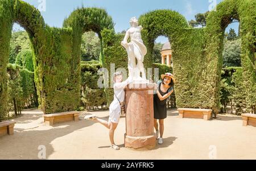
M26 29L32 43L36 63L39 63L39 55L43 55L39 49L45 42L42 36L44 35L45 24L38 10L28 3L18 0L2 0L0 2L0 118L3 118L7 113L6 69L9 59L11 29L14 22ZM39 78L39 72L37 74L36 78ZM38 84L40 83L38 82Z

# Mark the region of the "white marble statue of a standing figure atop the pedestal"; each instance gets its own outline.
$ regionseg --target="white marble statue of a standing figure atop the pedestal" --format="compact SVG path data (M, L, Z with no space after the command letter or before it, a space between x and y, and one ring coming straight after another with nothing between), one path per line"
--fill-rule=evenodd
M147 80L143 65L144 55L147 54L147 48L143 44L141 38L142 26L138 25L138 19L136 17L130 19L130 25L131 28L126 31L125 38L121 42L121 45L126 49L128 54L129 76L135 81L144 81ZM130 42L127 42L129 37Z

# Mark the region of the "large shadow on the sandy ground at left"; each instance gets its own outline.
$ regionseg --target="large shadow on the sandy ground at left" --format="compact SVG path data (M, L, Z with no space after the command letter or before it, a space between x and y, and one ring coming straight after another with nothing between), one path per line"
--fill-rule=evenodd
M36 119L42 117L42 114L36 114L36 117L18 118L17 123L27 123L26 119ZM82 118L82 119L81 119ZM106 119L107 117L99 117ZM46 159L52 153L54 148L51 142L57 138L71 134L75 131L80 131L84 127L92 126L95 122L84 120L83 117L79 118L78 122L64 122L56 123L54 126L39 125L37 129L19 129L14 127L14 135L2 136L0 138L0 159L39 159L39 147L45 147ZM15 147L11 145L15 143ZM72 141L71 141L72 142Z

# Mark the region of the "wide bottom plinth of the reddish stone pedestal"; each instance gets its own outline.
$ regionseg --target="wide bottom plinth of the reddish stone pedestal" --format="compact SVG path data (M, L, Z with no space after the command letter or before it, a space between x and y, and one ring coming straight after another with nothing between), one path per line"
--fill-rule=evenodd
M133 149L153 149L155 147L155 135L149 136L128 136L125 134L125 147Z

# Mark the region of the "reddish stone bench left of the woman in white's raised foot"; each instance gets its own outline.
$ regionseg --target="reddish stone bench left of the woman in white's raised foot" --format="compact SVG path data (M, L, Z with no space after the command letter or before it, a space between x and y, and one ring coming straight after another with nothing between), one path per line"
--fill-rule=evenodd
M53 126L55 123L68 122L68 121L79 121L80 112L62 112L53 114L44 114L44 122L48 126Z

